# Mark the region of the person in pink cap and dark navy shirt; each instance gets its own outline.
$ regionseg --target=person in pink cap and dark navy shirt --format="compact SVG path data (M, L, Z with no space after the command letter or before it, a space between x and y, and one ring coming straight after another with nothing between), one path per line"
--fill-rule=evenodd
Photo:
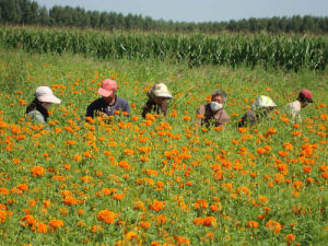
M129 104L126 99L118 97L116 93L116 81L109 79L104 80L102 86L98 89L98 94L102 97L95 99L87 106L85 117L106 117L117 115L117 113L128 117L130 114Z

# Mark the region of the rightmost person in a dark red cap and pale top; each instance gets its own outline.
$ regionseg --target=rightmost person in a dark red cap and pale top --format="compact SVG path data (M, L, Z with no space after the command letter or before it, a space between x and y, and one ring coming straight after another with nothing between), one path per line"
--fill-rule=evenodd
M307 104L313 103L312 92L304 89L298 93L296 101L289 103L285 107L293 122L302 122L301 109L306 107Z

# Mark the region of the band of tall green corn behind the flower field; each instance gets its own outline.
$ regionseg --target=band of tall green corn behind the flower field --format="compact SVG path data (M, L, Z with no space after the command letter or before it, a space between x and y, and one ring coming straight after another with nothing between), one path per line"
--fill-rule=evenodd
M222 34L105 33L80 30L0 27L0 45L30 52L83 54L97 59L169 59L190 67L245 65L255 68L325 70L325 36Z

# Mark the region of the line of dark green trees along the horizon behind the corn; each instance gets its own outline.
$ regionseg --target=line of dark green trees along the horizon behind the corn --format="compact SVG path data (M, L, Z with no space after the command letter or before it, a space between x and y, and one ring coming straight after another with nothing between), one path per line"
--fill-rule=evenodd
M266 31L269 33L328 33L328 16L294 15L229 22L173 22L140 14L86 11L77 7L54 5L49 10L31 0L0 0L0 23L43 26L77 26L99 30L141 30L157 32L218 33Z

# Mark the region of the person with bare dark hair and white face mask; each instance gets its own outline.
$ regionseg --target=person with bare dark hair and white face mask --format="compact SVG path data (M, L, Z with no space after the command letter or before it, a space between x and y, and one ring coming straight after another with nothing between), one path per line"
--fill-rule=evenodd
M229 121L229 116L224 110L226 103L226 93L222 90L214 91L211 96L211 103L201 105L197 110L197 125L222 127Z

